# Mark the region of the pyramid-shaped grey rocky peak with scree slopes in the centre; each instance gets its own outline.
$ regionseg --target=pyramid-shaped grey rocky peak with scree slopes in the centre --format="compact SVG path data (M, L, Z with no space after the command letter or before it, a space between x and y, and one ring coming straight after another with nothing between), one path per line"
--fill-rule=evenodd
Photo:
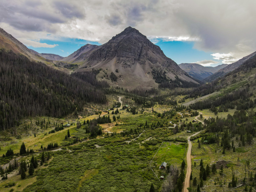
M76 71L102 69L98 78L125 88L157 87L162 80L197 83L166 57L159 46L132 27L125 28L107 43L93 47L71 62L83 63ZM109 78L111 72L117 77L114 81Z

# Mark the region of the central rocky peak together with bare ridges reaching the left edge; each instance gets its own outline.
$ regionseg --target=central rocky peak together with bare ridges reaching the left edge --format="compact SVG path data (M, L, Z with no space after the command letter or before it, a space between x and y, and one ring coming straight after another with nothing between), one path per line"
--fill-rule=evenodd
M166 57L159 46L132 27L124 29L100 46L86 44L68 57L38 53L28 49L3 29L0 32L3 34L0 43L7 50L68 73L99 69L97 78L106 80L110 85L133 89L158 87L159 84L170 88L198 84Z

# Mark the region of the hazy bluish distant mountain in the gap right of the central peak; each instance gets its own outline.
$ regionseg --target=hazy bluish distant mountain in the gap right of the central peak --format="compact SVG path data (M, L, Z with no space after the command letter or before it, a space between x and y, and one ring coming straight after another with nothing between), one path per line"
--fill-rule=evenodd
M194 77L195 79L198 79L202 81L208 76L211 76L212 74L216 73L222 68L227 67L228 64L222 64L218 65L216 67L204 67L202 65L199 65L197 63L181 63L179 67L188 73L188 75Z

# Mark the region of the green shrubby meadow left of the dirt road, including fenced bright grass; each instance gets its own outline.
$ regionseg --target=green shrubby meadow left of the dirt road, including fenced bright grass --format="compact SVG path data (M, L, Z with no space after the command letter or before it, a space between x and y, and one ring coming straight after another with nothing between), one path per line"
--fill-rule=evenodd
M169 109L166 106L165 110ZM101 116L103 115L108 114L102 113ZM4 188L4 185L12 180L15 182L15 186L12 188L19 191L24 189L24 192L33 191L35 188L48 191L61 191L60 188L70 189L70 191L73 191L73 189L78 191L92 191L92 189L94 191L133 191L136 188L140 188L140 191L146 192L149 190L151 182L154 183L157 189L160 189L161 182L158 181L149 168L149 162L162 143L162 139L173 134L172 129L168 128L168 126L171 126L169 121L174 122L176 117L181 118L181 116L176 114L172 119L161 118L157 114L152 114L151 108L146 109L143 114L136 115L132 115L126 110L120 110L118 115L120 115L120 119L117 120L117 123L122 125L112 126L109 130L110 132L130 131L136 128L138 133L133 133L126 137L121 137L120 134L107 137L105 133L103 134L105 138L89 140L84 143L78 142L74 146L67 147L70 150L69 153L67 150L52 152L51 163L47 166L39 166L34 177L27 177L25 180L21 180L20 175L16 175L4 182L0 181L1 190L10 190L10 188ZM111 118L112 116L110 114ZM83 123L84 120L97 117L98 115L92 115L81 118L79 121ZM32 119L32 124L34 124L35 119ZM29 121L26 121L25 124L28 124ZM53 120L51 121L53 122ZM76 123L76 119L60 119L58 121ZM146 121L149 128L144 126ZM156 126L158 123L159 125ZM23 128L25 124L21 125L21 127ZM153 124L156 127L151 128ZM161 127L160 124L162 124ZM140 127L140 125L142 126ZM109 124L101 124L101 126L104 129L110 127ZM52 129L53 127L51 126L44 132ZM70 126L69 131L71 135L84 136L84 130L77 130L76 125ZM4 154L11 147L14 153L18 153L22 142L25 143L27 148L33 148L34 150L40 149L41 145L46 146L52 142L58 142L61 145L67 134L67 128L59 132L47 133L47 135L44 135L44 132L40 132L39 128L36 137L31 134L27 137L21 137L21 139L15 139L15 143L9 143L9 145L2 147L0 152ZM139 135L139 133L141 134ZM150 138L157 139L158 143L156 145L148 145L147 141ZM124 142L125 140L132 141L128 144ZM157 164L156 172L158 172L159 165L163 161L168 162L168 164L180 165L184 158L184 153L185 145L179 142L172 142L171 145L170 142L164 142L154 159ZM29 160L30 158L31 155L25 159ZM60 164L65 170L64 172L59 172ZM59 174L55 174L56 172ZM52 177L53 175L54 177ZM114 178L119 179L117 181ZM126 184L124 184L124 181ZM51 186L48 184L49 182ZM21 186L18 187L19 185ZM101 188L96 186L101 186ZM56 190L56 188L59 189Z

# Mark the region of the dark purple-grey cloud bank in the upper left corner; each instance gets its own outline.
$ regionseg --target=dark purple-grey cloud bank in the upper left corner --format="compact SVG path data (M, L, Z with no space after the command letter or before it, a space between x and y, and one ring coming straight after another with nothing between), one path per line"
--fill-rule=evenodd
M56 32L55 23L66 23L72 18L84 18L77 4L64 1L14 1L0 4L0 22L19 30Z

